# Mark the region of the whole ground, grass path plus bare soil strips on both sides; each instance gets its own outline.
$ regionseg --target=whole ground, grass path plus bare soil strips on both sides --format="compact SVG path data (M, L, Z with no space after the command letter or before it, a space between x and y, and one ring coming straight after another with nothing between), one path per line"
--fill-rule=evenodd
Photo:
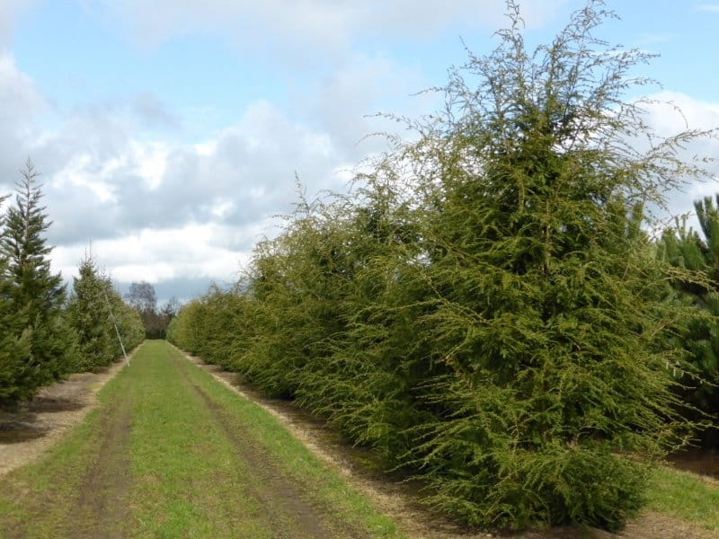
M129 368L71 376L0 416L0 536L494 536L428 512L416 485L388 481L371 462L291 403L148 342ZM581 536L617 537L570 527L514 535ZM715 534L645 513L621 536Z

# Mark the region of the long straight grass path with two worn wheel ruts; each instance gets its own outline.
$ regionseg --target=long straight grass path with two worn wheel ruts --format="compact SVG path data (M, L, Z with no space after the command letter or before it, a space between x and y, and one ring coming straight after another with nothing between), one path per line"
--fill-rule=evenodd
M399 537L269 413L164 341L0 481L0 537Z

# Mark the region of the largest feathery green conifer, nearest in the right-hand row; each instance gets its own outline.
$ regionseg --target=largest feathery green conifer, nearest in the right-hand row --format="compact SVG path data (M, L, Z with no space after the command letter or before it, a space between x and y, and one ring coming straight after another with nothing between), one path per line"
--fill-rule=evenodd
M644 489L627 454L661 455L679 427L679 352L658 339L679 314L638 222L705 175L678 152L709 133L657 137L623 99L647 57L594 37L603 2L534 52L508 6L499 47L450 72L445 110L395 156L420 194L433 304L396 349L419 335L430 350L433 419L405 460L474 525L616 529Z

